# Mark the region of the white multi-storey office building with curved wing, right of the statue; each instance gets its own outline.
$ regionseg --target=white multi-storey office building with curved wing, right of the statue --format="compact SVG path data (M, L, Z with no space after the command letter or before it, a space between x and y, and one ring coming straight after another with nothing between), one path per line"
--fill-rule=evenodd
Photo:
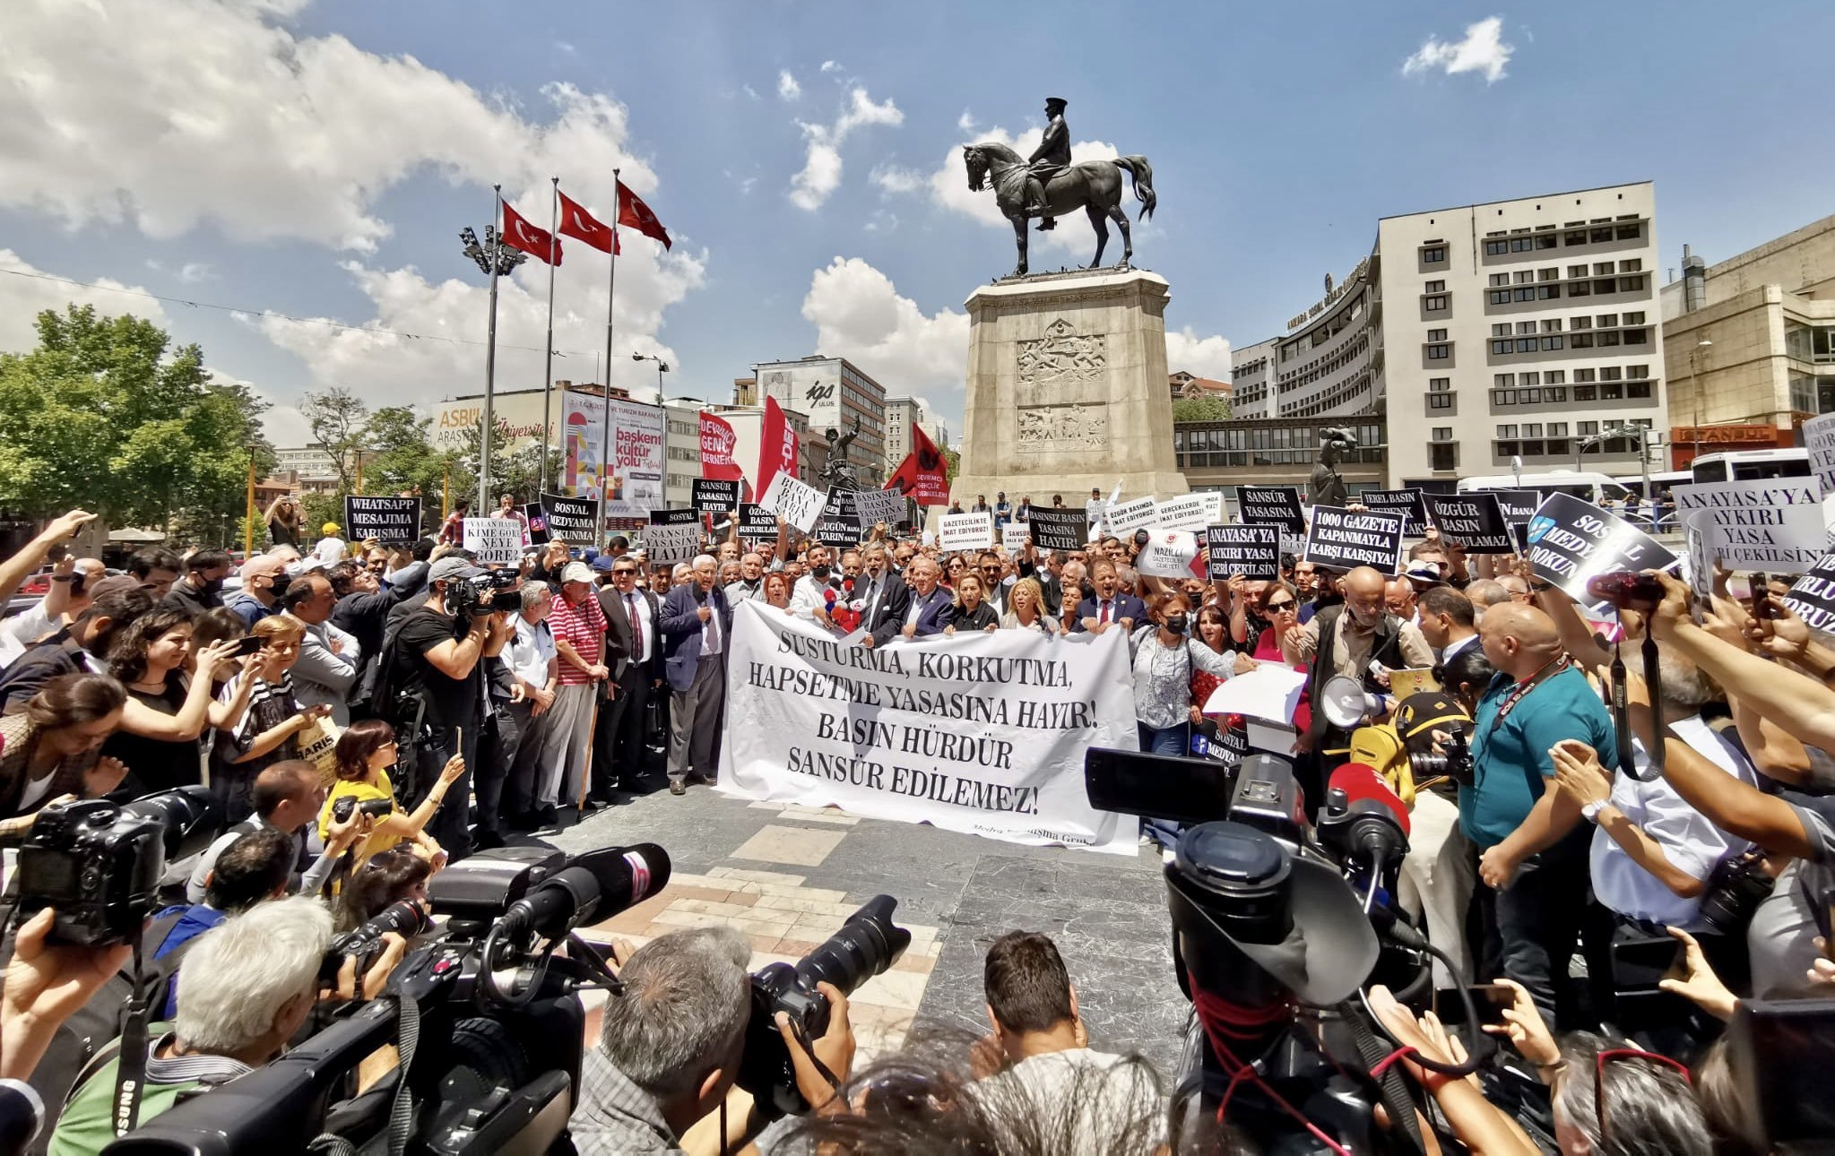
M1664 424L1655 266L1650 182L1384 217L1371 253L1283 336L1233 350L1235 418L1288 420L1268 451L1316 451L1319 428L1376 418L1393 435L1385 488L1576 457L1635 473ZM1626 426L1650 433L1609 437ZM1259 468L1255 446L1231 450Z

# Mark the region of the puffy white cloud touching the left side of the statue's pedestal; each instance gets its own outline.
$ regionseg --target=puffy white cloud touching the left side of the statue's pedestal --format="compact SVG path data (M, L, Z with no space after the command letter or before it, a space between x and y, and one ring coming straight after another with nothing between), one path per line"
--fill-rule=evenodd
M949 308L925 314L892 279L859 257L835 257L809 279L802 316L815 323L815 349L844 356L888 395L927 391L962 417L969 371L969 317Z

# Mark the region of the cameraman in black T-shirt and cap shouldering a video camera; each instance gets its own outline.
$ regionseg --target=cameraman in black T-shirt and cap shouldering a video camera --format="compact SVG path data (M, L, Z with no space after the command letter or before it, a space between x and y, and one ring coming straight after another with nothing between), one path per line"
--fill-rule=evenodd
M479 730L484 725L486 659L503 651L516 628L505 615L492 615L488 604L453 606L453 587L470 589L464 580L483 578L484 569L457 554L440 558L428 571L428 600L411 611L395 635L393 686L415 706L415 717L395 717L396 741L418 745L424 765L440 767L459 754L468 767L477 761ZM486 595L488 596L488 595ZM420 776L417 795L431 791L433 774ZM472 851L472 831L464 800L472 791L468 769L450 787L457 806L433 813L428 833L453 857ZM404 798L418 806L418 798Z

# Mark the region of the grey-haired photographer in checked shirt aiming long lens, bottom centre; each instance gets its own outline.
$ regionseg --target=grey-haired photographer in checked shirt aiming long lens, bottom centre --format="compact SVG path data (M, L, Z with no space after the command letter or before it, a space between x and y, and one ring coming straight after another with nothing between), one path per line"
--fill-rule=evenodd
M740 1073L745 1028L752 1017L752 949L730 927L670 932L637 949L618 971L624 995L606 1000L596 1048L580 1064L580 1092L569 1128L580 1156L624 1152L714 1152L728 1138L705 1134L719 1119ZM853 1029L848 1000L822 984L829 1002L828 1035L811 1040L815 1059L848 1079ZM835 1088L804 1046L785 1046L796 1086L815 1110L839 1108ZM695 1121L701 1128L690 1128ZM728 1128L730 1130L730 1128ZM695 1143L701 1141L701 1143Z

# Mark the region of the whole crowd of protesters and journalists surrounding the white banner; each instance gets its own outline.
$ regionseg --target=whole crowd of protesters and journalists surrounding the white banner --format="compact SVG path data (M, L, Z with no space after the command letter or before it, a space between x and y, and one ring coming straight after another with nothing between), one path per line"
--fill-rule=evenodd
M1029 506L1002 494L991 512L1006 528ZM327 525L303 552L297 508L270 512L261 554L150 547L110 572L62 549L88 521L59 517L0 563L7 596L50 567L46 596L0 622L0 840L18 846L77 798L217 800L222 835L172 866L145 938L169 1028L149 1042L141 1119L272 1059L327 991L380 991L406 939L332 984L319 960L334 927L424 901L444 864L519 833L714 782L740 602L862 648L1123 631L1140 747L1158 754L1242 730L1206 710L1222 683L1294 668L1305 690L1283 754L1308 815L1354 730L1319 708L1327 681L1356 681L1382 721L1395 675L1429 672L1470 719L1450 730L1472 765L1411 785L1398 897L1444 952L1439 989L1496 978L1510 993L1499 1035L1549 1088L1562 1150L1765 1150L1756 1106L1730 1090L1723 1026L1741 1000L1835 993L1835 639L1782 587L1738 598L1738 578L1716 574L1699 600L1664 574L1659 596L1595 622L1523 560L1468 558L1435 534L1398 576L1286 556L1279 578L1169 580L1136 569L1134 534L947 552L883 523L844 547L780 528L655 563L613 536L481 565L444 532L350 543ZM1615 662L1646 637L1650 683ZM1171 853L1176 835L1149 824L1143 839ZM51 943L48 927L40 914L17 930L0 1077L37 1072L46 1103L68 1095L51 1152L94 1152L116 1057L72 1062L44 1022L105 1002L127 958ZM578 1150L721 1150L743 1134L745 1112L716 1108L743 1048L749 954L695 928L624 960L626 996L582 1070ZM987 1039L861 1073L846 1000L826 989L829 1037L791 1050L817 1108L793 1132L859 1152L1248 1150L1180 1116L1143 1061L1088 1048L1050 939L1006 936L985 967ZM1538 1150L1475 1083L1418 1062L1462 1059L1431 1013L1382 989L1369 1009L1451 1134Z

